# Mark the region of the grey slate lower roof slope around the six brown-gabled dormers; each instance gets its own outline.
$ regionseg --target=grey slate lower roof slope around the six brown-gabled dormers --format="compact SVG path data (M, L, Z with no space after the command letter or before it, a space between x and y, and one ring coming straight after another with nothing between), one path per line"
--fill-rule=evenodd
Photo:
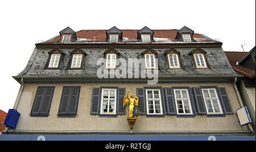
M86 55L82 61L82 70L68 70L71 52L75 48L64 48L60 50L65 54L60 61L60 70L46 69L47 61L49 58L48 52L52 50L47 48L35 48L32 52L30 60L26 68L18 74L22 75L41 75L41 76L84 76L96 77L97 70L102 65L97 65L99 58L104 58L106 48L81 48ZM142 59L146 49L129 49L129 48L114 48L119 52L118 58L123 58L128 61L128 58ZM233 75L238 74L232 69L228 59L225 56L221 47L218 48L201 48L207 52L205 54L208 62L209 69L195 69L195 62L191 52L196 48L174 48L180 52L181 70L168 70L167 57L164 54L168 49L153 49L157 52L159 76L185 76L191 75ZM118 67L120 65L118 64ZM130 66L130 65L129 65ZM144 65L143 65L144 66ZM141 69L142 66L139 66ZM139 70L141 71L141 70Z

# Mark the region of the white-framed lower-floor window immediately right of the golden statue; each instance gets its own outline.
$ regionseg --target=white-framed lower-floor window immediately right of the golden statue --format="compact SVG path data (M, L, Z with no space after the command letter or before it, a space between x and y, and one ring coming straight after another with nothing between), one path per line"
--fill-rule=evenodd
M152 91L152 97L153 98L148 98L147 91ZM158 91L159 98L155 98L154 97L154 91ZM159 100L160 113L156 113L155 112L155 100L156 99ZM154 113L149 113L148 100L152 100L153 101ZM147 106L147 115L163 115L162 98L161 98L161 91L160 91L160 89L146 89L146 106Z

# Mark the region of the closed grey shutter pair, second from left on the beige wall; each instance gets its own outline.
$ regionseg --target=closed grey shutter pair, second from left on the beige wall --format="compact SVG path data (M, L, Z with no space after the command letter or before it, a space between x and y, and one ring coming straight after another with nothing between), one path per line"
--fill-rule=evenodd
M58 115L76 116L80 87L63 87Z

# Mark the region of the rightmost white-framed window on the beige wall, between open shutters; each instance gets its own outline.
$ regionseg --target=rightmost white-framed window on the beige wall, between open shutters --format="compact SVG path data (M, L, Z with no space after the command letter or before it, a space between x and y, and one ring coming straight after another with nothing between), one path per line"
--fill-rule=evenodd
M208 91L209 98L206 98L206 97L205 97L205 95L204 95L204 90L205 90L205 91ZM214 90L215 98L213 98L212 95L210 95L210 90ZM218 94L217 94L216 89L215 89L215 88L202 88L201 91L202 91L202 93L203 93L204 104L205 104L205 107L206 107L206 109L207 109L207 113L208 113L208 114L222 114L223 111L222 111L222 108L221 108L220 100L218 99ZM206 100L210 100L210 105L212 106L213 112L209 112L209 109L208 109L208 107L207 107L207 102L206 102ZM216 111L215 111L212 100L217 100L217 105L218 105L218 108L220 109L220 112L216 112Z

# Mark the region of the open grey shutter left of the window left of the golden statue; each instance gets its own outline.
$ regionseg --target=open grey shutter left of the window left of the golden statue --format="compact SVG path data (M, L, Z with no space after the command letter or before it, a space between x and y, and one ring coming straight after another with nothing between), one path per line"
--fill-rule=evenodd
M100 97L101 97L101 89L93 88L92 89L92 103L90 105L90 114L97 115L100 112Z

